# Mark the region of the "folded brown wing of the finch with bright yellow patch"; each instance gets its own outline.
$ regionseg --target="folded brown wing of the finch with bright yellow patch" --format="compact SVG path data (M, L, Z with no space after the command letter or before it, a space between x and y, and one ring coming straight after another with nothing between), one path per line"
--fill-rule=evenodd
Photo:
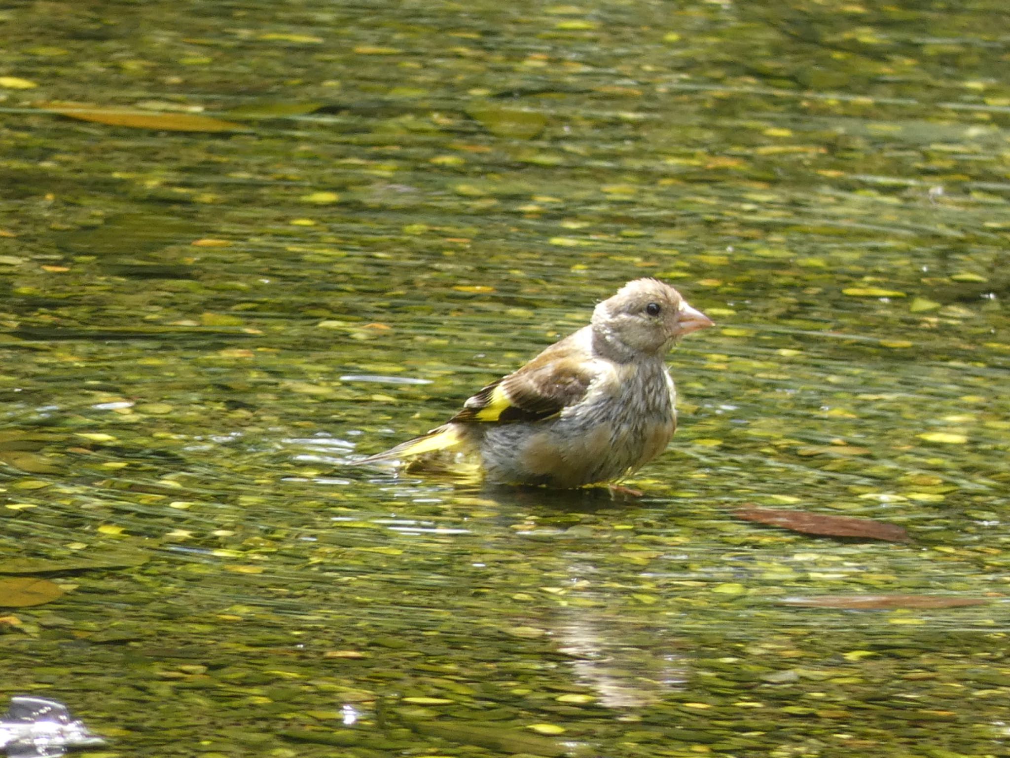
M593 373L578 351L552 346L521 369L492 382L464 403L452 421L539 421L586 395Z

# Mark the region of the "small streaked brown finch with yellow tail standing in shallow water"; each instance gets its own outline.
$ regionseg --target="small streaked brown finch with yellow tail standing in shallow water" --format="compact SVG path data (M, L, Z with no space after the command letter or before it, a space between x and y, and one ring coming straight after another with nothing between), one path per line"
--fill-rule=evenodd
M484 387L423 437L356 463L479 458L503 484L611 482L662 453L677 425L664 356L711 326L673 287L635 279L599 303L588 326Z

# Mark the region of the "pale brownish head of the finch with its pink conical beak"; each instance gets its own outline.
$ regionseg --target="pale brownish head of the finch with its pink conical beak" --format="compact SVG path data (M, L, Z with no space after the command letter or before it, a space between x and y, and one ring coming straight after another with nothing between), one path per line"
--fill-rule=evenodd
M712 325L681 293L659 279L635 279L593 310L593 331L620 354L662 355L684 335Z

